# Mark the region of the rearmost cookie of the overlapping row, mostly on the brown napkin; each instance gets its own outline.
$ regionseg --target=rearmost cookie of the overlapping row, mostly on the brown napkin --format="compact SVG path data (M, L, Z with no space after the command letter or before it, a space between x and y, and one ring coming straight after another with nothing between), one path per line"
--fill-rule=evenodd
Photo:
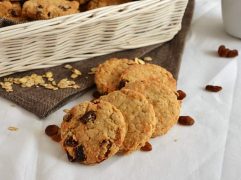
M106 94L118 89L124 70L136 64L132 60L112 58L100 64L95 72L95 83L100 93Z

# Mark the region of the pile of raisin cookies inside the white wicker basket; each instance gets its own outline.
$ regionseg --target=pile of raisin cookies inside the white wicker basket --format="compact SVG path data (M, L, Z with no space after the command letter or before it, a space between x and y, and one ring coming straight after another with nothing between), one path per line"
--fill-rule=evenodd
M14 22L51 19L131 0L0 0L0 18Z

